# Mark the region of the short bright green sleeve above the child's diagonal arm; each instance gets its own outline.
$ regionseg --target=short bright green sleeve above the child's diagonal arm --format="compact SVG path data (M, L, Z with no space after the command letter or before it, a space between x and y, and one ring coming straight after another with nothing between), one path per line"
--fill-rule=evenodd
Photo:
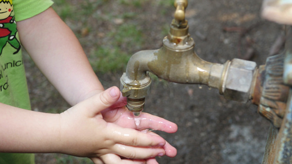
M52 0L13 0L15 21L22 21L38 15L52 4Z

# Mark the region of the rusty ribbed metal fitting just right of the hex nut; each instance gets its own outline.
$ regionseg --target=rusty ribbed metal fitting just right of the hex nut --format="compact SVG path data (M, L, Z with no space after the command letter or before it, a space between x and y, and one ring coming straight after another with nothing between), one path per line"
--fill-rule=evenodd
M276 127L281 126L289 90L283 82L284 57L284 54L269 57L265 71L259 75L263 86L258 112Z

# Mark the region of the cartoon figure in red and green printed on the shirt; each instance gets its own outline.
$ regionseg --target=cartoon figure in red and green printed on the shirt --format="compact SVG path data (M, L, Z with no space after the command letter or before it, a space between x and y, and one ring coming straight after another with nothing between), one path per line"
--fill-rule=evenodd
M13 54L16 54L21 47L16 39L17 29L14 15L11 16L12 11L12 0L0 0L0 56L7 42L16 49Z

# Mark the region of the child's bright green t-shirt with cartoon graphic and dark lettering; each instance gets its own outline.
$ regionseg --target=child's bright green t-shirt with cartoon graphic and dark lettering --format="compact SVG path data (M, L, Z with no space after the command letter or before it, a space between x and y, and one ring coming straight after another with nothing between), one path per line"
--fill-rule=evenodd
M16 21L33 17L52 3L51 0L0 0L1 103L31 110ZM34 154L0 153L0 164L34 163Z

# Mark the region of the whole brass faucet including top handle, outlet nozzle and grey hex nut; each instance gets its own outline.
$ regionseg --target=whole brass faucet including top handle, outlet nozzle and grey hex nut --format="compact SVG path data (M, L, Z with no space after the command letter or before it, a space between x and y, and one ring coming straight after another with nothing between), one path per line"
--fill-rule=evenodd
M205 84L219 89L219 93L230 99L246 102L251 98L256 64L241 59L218 64L199 58L194 50L195 42L189 34L188 21L185 20L187 5L188 0L175 0L174 19L161 48L139 51L128 62L126 73L121 77L121 91L128 98L127 108L135 115L143 110L145 97L150 91L148 72L169 82ZM238 72L244 76L236 77ZM234 90L234 85L240 82L240 88Z

